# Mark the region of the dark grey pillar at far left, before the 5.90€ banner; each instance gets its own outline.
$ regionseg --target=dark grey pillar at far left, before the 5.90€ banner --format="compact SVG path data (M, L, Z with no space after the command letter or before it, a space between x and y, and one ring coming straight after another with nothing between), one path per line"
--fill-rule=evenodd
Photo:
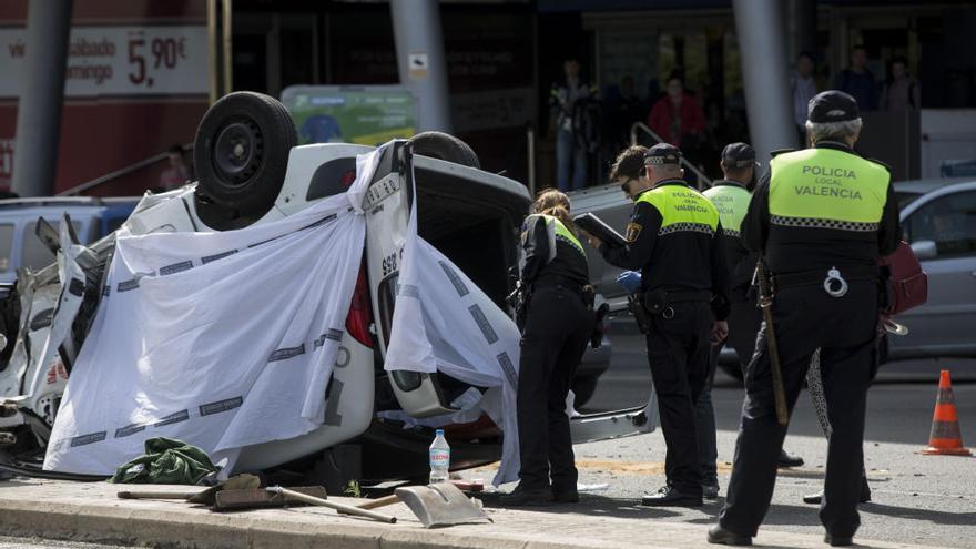
M54 191L71 3L31 0L28 6L24 79L17 105L11 185L21 196L47 196Z

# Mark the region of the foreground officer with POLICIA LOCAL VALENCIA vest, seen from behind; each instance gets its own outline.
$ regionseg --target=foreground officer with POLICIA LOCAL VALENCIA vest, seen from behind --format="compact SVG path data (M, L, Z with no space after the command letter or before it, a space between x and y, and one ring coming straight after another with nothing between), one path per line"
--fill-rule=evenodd
M898 210L887 169L853 151L857 103L826 91L810 101L811 149L776 154L742 223L742 241L763 254L770 273L772 327L787 410L793 409L813 352L821 368L833 434L820 517L825 541L850 546L861 522L857 500L867 385L878 323L878 256L895 251ZM763 292L765 292L764 289ZM732 479L709 541L749 545L769 509L776 459L786 435L775 410L773 360L763 326L745 375L745 404Z

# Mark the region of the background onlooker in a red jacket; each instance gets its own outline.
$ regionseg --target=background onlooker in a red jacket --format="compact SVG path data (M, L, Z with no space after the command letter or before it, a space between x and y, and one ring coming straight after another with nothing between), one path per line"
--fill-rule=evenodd
M648 126L665 142L685 149L703 139L705 113L694 96L684 91L681 74L671 74L667 90L668 94L651 109ZM693 141L689 138L693 138Z

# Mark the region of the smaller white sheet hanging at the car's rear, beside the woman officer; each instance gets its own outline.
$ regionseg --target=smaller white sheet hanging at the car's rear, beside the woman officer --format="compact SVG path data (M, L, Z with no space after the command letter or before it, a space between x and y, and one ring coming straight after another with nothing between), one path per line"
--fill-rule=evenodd
M384 367L428 374L440 370L461 382L490 387L480 407L505 431L501 466L494 484L518 480L516 394L521 336L515 321L417 235L416 205L410 212L398 286ZM468 418L469 414L459 414L451 419Z

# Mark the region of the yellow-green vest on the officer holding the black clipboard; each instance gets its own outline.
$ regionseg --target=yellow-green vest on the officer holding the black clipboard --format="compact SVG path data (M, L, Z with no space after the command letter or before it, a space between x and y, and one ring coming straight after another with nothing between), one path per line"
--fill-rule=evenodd
M661 185L641 194L637 202L647 202L661 213L659 236L681 231L715 234L719 211L702 193L684 185Z

